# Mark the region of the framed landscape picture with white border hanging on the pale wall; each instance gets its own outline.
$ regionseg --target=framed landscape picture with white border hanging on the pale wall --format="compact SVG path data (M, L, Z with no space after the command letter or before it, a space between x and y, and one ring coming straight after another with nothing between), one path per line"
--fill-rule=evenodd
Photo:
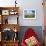
M36 10L35 9L24 9L23 18L24 19L36 19Z

